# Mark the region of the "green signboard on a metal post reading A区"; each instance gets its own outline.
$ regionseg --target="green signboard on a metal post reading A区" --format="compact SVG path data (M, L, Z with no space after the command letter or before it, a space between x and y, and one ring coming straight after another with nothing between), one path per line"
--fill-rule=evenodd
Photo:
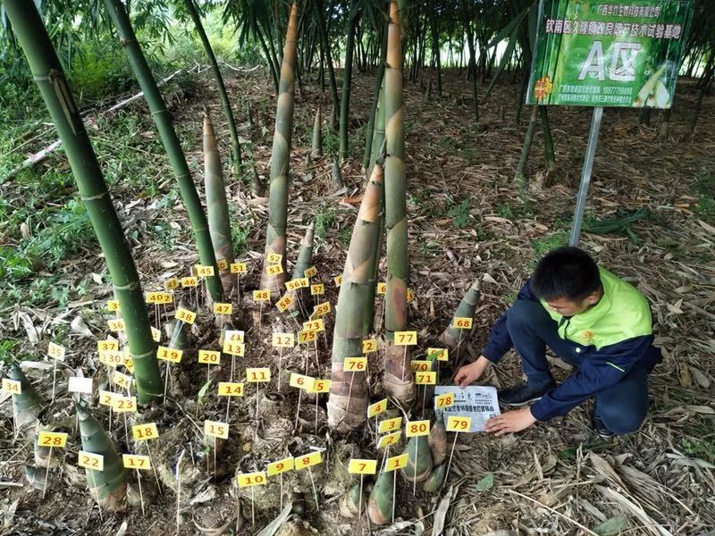
M689 0L542 0L526 103L669 108Z

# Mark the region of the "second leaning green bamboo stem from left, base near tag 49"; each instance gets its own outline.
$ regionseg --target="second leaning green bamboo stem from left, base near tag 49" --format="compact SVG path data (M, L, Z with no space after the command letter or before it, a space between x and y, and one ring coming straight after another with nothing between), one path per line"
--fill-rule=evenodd
M164 98L156 87L156 80L151 73L147 58L144 57L137 36L134 35L134 29L131 28L129 15L122 5L122 0L105 0L105 7L119 33L124 52L129 58L131 69L139 81L139 86L144 92L147 105L149 105L149 110L151 110L151 115L156 123L156 129L159 130L159 136L164 143L164 150L169 156L173 173L179 183L181 199L189 214L191 228L194 230L199 260L205 266L213 266L214 273L218 273L206 214L201 206L201 200L198 198L196 185L191 179L189 165L186 163L186 156L181 149L181 141L173 128L171 117L164 105ZM223 289L218 277L206 278L206 285L214 301L223 301Z

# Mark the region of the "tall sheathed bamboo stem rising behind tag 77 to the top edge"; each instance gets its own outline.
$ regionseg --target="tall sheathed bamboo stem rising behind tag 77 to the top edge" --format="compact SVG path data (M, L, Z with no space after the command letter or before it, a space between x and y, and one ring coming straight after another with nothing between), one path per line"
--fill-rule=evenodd
M390 27L385 66L385 227L387 230L387 290L385 293L385 374L388 396L403 407L416 395L409 365L409 347L396 346L395 331L408 329L408 217L405 177L405 118L402 105L402 43L400 14L390 3ZM363 313L364 314L364 313Z

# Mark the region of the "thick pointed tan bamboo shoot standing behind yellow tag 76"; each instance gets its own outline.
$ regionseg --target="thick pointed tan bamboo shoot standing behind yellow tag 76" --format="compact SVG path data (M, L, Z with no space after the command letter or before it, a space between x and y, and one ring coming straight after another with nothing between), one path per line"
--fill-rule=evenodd
M341 291L335 306L328 425L342 433L357 430L366 421L366 374L345 372L343 366L346 357L362 354L362 340L367 334L363 314L369 296L370 258L380 232L382 183L383 166L376 163L352 230Z

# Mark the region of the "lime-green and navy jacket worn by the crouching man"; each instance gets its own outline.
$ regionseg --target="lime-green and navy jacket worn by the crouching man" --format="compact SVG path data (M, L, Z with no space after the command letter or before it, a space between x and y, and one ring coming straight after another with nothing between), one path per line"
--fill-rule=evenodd
M651 308L643 294L612 273L600 272L603 297L584 313L564 317L540 302L555 322L559 337L573 344L583 360L576 373L531 406L538 421L566 415L601 389L618 383L635 364L644 364L650 373L661 360L660 349L652 346ZM519 299L537 300L528 281ZM499 362L513 346L508 316L509 311L494 324L482 352L492 363Z

